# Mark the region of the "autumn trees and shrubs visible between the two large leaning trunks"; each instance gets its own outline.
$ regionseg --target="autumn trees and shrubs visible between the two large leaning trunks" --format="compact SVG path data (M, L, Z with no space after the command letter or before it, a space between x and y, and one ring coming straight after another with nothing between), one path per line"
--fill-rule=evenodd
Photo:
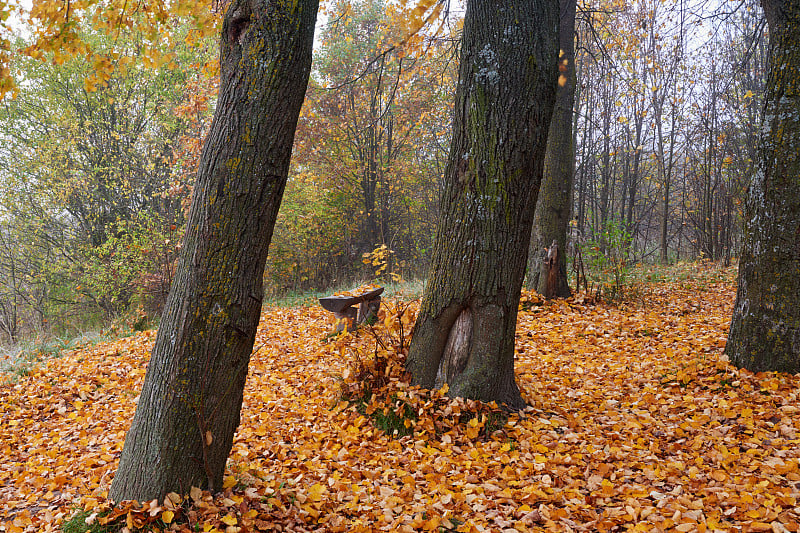
M381 0L330 10L270 248L268 279L283 287L363 276L362 254L382 244L413 268L435 233L453 45L444 31L404 42L408 13Z

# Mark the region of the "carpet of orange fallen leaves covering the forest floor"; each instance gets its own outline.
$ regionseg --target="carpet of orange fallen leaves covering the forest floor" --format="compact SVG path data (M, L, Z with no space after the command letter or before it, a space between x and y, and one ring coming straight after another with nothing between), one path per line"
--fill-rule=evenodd
M530 407L504 425L492 406L396 379L414 305L388 302L385 323L332 340L320 308L265 309L224 492L116 514L131 530L228 533L798 531L800 377L724 361L733 296L730 276L649 284L620 305L526 294L516 369ZM107 509L153 340L0 385L0 531ZM342 395L376 368L360 414ZM413 435L374 427L370 413L405 405Z

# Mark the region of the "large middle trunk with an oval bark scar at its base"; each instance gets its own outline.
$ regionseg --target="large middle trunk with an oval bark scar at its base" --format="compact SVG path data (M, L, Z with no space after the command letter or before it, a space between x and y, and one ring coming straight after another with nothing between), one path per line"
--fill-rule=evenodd
M453 141L407 368L517 409L514 332L555 100L558 0L468 0ZM437 383L437 373L439 379Z

